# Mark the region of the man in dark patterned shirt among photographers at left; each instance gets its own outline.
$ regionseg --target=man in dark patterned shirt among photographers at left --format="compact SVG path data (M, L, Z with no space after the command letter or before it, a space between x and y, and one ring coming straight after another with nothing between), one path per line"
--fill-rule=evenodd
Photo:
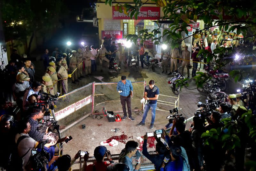
M41 142L44 134L48 132L48 127L46 128L45 132L39 132L37 130L38 121L37 119L42 119L44 116L44 113L42 112L41 107L34 106L28 110L28 114L30 115L28 118L28 122L31 125L31 131L28 132L29 136L33 139L35 139L38 142Z

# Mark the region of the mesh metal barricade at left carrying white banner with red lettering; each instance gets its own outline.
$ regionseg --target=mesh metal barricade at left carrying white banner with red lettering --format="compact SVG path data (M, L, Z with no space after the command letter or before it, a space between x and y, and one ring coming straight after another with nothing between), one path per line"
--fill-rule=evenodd
M64 125L65 129L68 129L91 114L92 85L93 83L87 84L58 98L54 109L58 124Z

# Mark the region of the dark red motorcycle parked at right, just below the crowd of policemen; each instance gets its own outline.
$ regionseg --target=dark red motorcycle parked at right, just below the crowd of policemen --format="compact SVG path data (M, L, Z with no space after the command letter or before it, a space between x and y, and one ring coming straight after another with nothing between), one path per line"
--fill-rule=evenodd
M211 66L207 65L205 67L204 70L207 71L206 75L211 76L212 79L209 80L209 81L211 81L213 84L218 84L218 86L220 87L220 90L224 91L227 88L227 83L226 82L228 81L229 74L222 73L218 69L217 70L212 69L213 65L215 65L215 64L212 64ZM199 92L202 92L202 89L200 89L200 88L199 89L197 88L197 90Z

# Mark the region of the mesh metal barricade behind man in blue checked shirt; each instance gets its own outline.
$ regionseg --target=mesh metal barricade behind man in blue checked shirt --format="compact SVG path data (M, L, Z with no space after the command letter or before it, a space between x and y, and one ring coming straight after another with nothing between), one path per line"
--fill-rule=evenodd
M92 114L101 114L102 107L114 112L123 112L116 86L117 82L93 83ZM132 82L132 86L132 111L141 111L143 105L140 103L140 99L143 97L146 82Z

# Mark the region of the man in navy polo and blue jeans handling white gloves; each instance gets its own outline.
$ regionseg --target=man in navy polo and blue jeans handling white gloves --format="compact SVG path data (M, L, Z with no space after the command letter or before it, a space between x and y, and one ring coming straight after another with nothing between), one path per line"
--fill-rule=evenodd
M145 87L145 92L143 98L140 100L140 103L144 103L145 100L148 100L144 107L144 113L142 121L137 124L137 126L145 125L145 120L148 115L148 110L151 108L151 123L149 129L154 128L154 121L156 117L156 102L159 96L159 89L155 86L154 80L149 81L149 85Z

